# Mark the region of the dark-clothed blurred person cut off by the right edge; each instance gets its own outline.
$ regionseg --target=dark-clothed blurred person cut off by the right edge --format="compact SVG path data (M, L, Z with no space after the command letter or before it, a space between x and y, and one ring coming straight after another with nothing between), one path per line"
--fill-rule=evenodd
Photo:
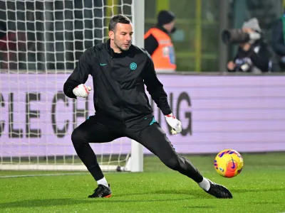
M285 71L285 11L283 16L279 18L272 28L272 48L278 55L279 66Z

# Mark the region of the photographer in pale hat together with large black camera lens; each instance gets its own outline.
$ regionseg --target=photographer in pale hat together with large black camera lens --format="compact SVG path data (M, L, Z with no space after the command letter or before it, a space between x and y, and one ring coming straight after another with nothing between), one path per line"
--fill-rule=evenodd
M262 38L257 18L245 22L242 29L224 31L222 40L226 44L239 45L236 56L227 64L229 72L261 73L272 71L269 45Z

